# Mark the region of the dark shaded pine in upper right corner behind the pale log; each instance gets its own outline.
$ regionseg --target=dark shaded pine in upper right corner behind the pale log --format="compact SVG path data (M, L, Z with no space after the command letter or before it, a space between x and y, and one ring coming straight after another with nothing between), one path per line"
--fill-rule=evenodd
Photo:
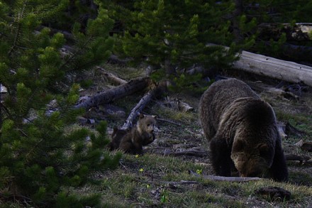
M287 42L286 34L282 33L273 37L272 33L283 31L284 23L306 23L311 21L312 1L235 1L240 7L240 12L236 13L233 21L236 21L235 29L239 31L244 40L250 40L249 45L245 45L245 50L255 53L262 53L276 58L289 58L283 50ZM276 24L272 31L261 33L261 24ZM235 30L233 28L233 31ZM306 45L306 43L292 43L296 45ZM311 44L310 44L311 45Z

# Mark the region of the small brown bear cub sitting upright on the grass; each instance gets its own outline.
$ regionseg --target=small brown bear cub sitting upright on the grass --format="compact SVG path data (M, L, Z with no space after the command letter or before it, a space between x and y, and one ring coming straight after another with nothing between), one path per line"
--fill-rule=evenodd
M113 129L110 150L120 149L125 153L143 154L143 146L155 140L156 116L139 114L138 122L130 131Z

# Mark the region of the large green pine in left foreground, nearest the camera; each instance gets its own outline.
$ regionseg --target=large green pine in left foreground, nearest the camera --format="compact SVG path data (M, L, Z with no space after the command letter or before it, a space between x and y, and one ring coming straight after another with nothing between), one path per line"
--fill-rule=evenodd
M74 44L64 55L64 35L42 26L55 21L67 6L65 0L0 2L0 82L8 89L1 99L0 201L22 198L36 207L99 206L99 195L79 197L68 187L84 185L91 171L115 168L121 158L104 150L105 122L97 126L97 133L71 128L83 112L72 108L79 85L59 87L70 73L107 60L113 21L99 9L85 30L75 23ZM47 114L52 99L58 111Z

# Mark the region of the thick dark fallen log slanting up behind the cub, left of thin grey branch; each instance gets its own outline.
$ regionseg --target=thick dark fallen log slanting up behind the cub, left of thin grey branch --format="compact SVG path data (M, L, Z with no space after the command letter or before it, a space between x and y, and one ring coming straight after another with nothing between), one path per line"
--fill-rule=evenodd
M86 110L91 109L92 107L99 106L100 104L108 104L113 102L116 99L121 99L126 97L134 92L138 92L142 89L148 87L151 83L149 77L138 78L136 80L130 80L126 84L120 85L113 89L109 89L106 92L101 92L96 94L93 97L90 97L85 102L77 104L74 108L84 108Z

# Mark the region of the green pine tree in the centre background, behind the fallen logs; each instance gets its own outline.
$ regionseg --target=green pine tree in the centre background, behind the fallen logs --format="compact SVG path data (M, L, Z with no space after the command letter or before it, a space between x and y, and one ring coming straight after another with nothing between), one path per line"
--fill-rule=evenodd
M104 1L115 19L115 53L134 61L147 62L165 71L169 79L179 82L182 70L194 64L210 69L227 67L235 60L233 35L229 31L228 13L233 11L231 1L152 1L140 0L133 4ZM208 43L230 45L230 50ZM190 78L184 74L182 79ZM199 76L197 76L199 77ZM194 78L194 77L192 77ZM186 86L184 86L186 87Z

